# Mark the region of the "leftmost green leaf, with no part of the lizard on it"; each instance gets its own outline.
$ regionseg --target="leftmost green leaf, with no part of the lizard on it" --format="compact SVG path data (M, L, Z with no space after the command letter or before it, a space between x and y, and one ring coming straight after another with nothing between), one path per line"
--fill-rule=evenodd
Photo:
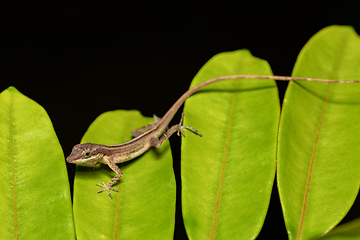
M45 110L0 94L1 239L74 239L64 155Z

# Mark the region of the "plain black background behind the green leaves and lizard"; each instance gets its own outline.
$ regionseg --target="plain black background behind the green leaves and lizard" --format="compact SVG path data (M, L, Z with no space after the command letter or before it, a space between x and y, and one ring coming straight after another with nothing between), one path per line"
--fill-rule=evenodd
M41 104L68 155L105 111L162 116L217 53L247 48L274 74L291 75L299 51L320 29L345 24L359 33L359 7L357 1L2 5L0 91L12 85ZM282 98L287 84L278 86ZM179 179L180 141L171 143ZM68 169L72 182L75 168ZM178 194L180 187L178 181ZM185 239L177 205L175 238ZM359 206L357 200L345 221L360 216ZM287 238L276 188L258 237L269 238Z

